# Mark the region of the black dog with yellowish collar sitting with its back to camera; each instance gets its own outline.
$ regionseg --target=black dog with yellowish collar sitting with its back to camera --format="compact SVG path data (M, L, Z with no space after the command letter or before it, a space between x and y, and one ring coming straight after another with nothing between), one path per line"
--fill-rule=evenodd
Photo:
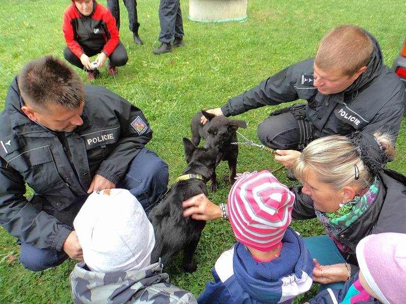
M206 181L216 178L219 150L196 148L187 138L183 138L183 145L188 163L183 173L188 176L180 178L189 179L175 182L159 205L148 214L155 231L151 263L161 257L162 263L167 266L172 256L183 249L183 268L187 272L194 272L197 263L193 255L206 221L184 217L182 202L200 193L207 195Z

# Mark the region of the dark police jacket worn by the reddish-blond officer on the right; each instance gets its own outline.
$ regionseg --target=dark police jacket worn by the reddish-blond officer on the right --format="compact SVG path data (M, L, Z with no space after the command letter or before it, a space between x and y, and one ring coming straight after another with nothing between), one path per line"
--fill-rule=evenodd
M323 95L313 86L314 59L300 61L281 70L221 107L225 116L235 116L264 105L297 99L307 100L307 119L315 127L315 138L354 131L374 134L391 131L397 137L403 118L406 94L397 75L383 64L378 42L367 69L344 92Z

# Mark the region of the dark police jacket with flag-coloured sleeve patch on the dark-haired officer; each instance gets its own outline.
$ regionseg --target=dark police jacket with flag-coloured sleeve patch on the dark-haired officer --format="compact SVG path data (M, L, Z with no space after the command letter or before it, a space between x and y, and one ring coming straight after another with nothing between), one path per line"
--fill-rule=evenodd
M93 176L117 184L152 138L139 108L102 87L85 86L85 93L83 125L69 133L25 116L17 79L0 113L0 224L40 249L61 250ZM24 197L25 182L36 205Z

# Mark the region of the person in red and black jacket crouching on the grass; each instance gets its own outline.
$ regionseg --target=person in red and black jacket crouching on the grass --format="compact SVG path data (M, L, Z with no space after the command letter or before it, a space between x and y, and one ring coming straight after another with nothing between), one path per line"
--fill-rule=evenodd
M117 74L116 66L127 63L127 51L121 44L116 21L110 11L94 0L72 0L63 13L63 36L67 61L89 73L95 79L107 57L109 74ZM98 55L97 55L98 54ZM97 55L95 61L89 57Z

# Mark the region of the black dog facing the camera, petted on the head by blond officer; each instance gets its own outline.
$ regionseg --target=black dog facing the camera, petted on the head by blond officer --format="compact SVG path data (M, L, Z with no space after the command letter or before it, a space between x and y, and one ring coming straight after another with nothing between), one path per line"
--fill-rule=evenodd
M200 123L201 115L204 115L209 122L205 125ZM190 124L192 129L192 143L197 146L200 138L205 139L204 148L218 148L223 161L228 161L230 174L228 181L230 186L234 183L235 170L237 166L238 145L231 144L237 141L235 131L240 128L246 128L247 124L241 120L230 120L224 116L215 116L206 111L197 112ZM216 192L217 182L212 183L211 191Z

